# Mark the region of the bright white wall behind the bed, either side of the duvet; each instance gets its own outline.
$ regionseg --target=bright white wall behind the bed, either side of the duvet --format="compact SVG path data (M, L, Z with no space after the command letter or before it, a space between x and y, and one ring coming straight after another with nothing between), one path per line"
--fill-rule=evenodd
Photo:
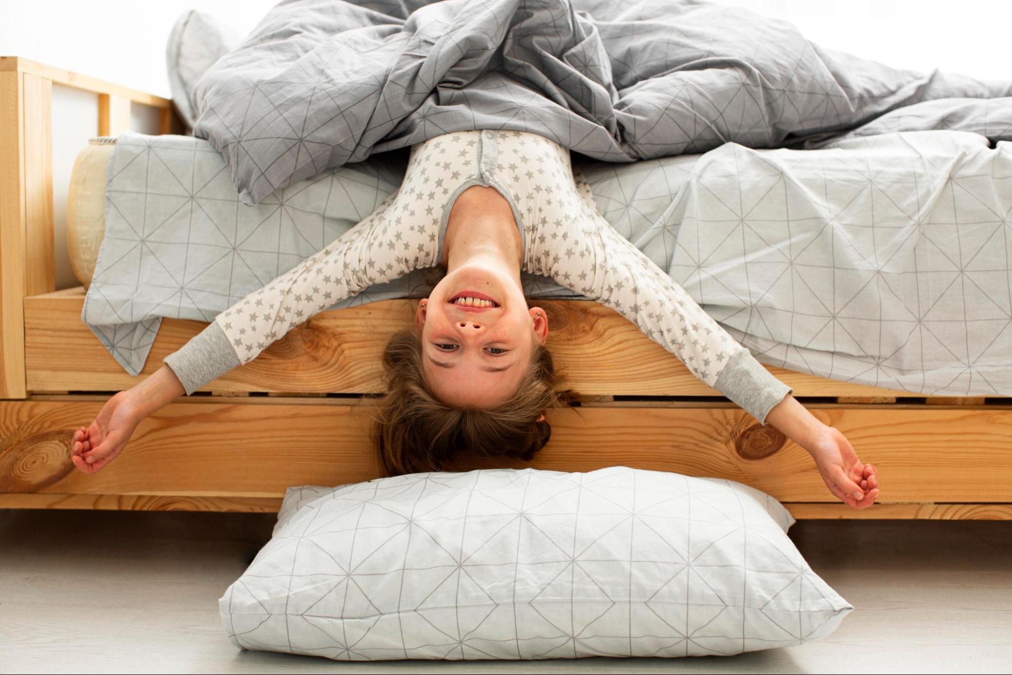
M720 1L786 19L825 47L901 68L938 67L981 78L1012 77L1002 34L1012 23L1012 2ZM274 4L272 0L0 0L0 54L168 96L165 41L177 16L199 9L245 35Z

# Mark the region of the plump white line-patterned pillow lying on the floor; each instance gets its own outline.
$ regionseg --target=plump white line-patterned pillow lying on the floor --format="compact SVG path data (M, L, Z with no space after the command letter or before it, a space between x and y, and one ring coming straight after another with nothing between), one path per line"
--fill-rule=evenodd
M233 644L339 660L730 655L853 607L733 481L615 467L290 488L220 600Z

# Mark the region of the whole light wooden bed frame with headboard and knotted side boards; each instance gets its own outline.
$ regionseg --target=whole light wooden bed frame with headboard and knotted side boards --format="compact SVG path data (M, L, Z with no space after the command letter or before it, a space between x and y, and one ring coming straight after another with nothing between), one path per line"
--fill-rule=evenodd
M380 475L362 395L412 301L323 312L257 359L146 420L108 469L74 471L73 430L111 393L156 370L205 324L165 319L133 377L81 322L84 288L55 290L51 159L54 83L99 96L99 135L131 102L168 100L17 58L0 58L0 508L275 511L286 486ZM770 367L880 471L879 504L839 504L808 453L702 385L662 347L591 302L543 302L566 385L590 397L550 413L534 467L613 465L740 481L798 518L1012 518L1012 401L925 398ZM1010 355L1012 358L1012 355ZM512 465L519 466L519 465Z

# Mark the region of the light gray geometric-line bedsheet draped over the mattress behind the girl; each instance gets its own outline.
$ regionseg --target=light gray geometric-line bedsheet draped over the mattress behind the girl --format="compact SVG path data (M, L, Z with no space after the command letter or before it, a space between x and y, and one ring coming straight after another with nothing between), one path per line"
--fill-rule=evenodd
M136 374L162 317L210 321L323 248L397 188L404 159L385 153L247 206L206 142L125 135L82 319ZM760 361L1012 395L1008 143L912 132L574 166L608 222ZM417 272L335 307L427 289ZM571 296L530 278L527 291Z

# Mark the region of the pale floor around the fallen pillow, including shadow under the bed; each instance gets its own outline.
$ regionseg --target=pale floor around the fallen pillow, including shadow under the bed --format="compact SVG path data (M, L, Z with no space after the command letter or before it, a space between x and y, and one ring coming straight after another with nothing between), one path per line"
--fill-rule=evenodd
M799 522L856 610L829 638L733 658L347 664L242 652L218 598L271 515L0 510L0 673L1008 673L1012 522Z

